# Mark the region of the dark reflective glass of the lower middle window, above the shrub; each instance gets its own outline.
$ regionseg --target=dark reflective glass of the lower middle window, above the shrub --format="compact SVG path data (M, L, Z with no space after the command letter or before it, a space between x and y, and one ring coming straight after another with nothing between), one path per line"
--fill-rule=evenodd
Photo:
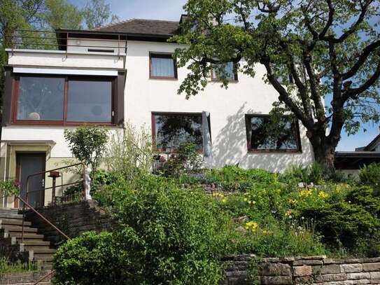
M183 141L203 146L202 115L155 115L156 148L177 148Z

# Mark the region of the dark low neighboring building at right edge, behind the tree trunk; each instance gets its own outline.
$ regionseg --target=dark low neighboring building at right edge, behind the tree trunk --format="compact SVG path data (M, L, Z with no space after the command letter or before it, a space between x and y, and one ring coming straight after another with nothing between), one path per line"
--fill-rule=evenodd
M346 174L357 176L359 169L371 163L380 162L380 134L370 144L355 151L337 151L335 153L335 167Z

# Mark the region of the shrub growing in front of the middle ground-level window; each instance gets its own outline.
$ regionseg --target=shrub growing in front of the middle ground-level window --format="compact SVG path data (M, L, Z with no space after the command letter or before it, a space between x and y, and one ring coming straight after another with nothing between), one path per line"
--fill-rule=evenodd
M197 145L192 141L183 141L160 171L164 176L178 177L181 174L198 172L202 164L202 154L199 153Z

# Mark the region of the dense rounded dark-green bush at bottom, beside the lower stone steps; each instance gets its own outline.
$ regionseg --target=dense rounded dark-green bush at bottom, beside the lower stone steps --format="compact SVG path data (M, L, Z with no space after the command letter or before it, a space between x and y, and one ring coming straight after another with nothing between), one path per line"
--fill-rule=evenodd
M111 232L86 232L59 247L54 258L55 284L128 284L130 259Z

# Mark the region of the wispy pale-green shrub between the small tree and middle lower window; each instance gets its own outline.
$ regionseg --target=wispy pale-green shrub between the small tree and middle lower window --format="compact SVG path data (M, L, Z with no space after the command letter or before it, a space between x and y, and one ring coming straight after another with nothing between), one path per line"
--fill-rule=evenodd
M143 126L140 130L125 123L123 132L110 137L106 150L106 167L115 175L134 180L139 172L148 172L153 163L152 137Z

